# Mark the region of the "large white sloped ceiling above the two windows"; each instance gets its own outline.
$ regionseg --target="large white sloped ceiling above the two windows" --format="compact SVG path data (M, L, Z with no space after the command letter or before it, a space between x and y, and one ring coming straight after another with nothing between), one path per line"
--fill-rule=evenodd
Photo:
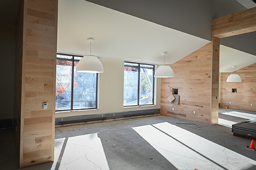
M58 52L172 64L210 41L84 0L59 0Z

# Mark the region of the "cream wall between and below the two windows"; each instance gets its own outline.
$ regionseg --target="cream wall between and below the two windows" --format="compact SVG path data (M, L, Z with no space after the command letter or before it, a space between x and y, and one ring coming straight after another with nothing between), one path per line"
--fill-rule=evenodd
M56 117L78 116L89 114L139 111L161 107L161 79L155 79L155 106L123 107L124 94L124 61L100 58L104 73L99 74L99 109L87 111L56 112Z

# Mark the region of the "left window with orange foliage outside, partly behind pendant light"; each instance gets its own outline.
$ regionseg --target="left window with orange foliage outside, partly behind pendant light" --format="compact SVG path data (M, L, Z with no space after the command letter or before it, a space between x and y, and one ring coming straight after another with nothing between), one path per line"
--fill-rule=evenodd
M97 73L76 72L82 56L57 54L55 111L97 108Z

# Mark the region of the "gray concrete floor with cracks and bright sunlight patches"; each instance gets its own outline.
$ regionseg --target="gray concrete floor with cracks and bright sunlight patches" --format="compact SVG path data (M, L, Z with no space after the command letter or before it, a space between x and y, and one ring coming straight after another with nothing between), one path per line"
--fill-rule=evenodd
M220 109L227 126L152 116L56 128L55 161L23 169L253 170L251 140L233 136L228 124L255 115ZM0 137L0 169L18 169L12 130L0 130Z

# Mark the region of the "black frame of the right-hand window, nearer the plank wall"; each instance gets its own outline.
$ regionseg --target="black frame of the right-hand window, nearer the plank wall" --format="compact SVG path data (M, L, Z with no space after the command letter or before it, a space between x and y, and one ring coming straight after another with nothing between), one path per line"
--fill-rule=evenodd
M125 66L129 66L131 67L131 65L125 65L125 63L131 63L131 64L138 64L138 94L137 94L137 105L129 105L129 106L125 106L124 105L124 101L123 101L123 107L134 107L134 106L152 106L155 105L155 65L154 64L147 64L147 63L137 63L137 62L129 62L129 61L124 61L124 67ZM140 65L151 65L153 66L153 71L152 71L152 76L153 76L153 87L152 87L152 104L147 104L147 105L140 105ZM124 95L124 92L123 92ZM123 97L124 100L124 97Z

